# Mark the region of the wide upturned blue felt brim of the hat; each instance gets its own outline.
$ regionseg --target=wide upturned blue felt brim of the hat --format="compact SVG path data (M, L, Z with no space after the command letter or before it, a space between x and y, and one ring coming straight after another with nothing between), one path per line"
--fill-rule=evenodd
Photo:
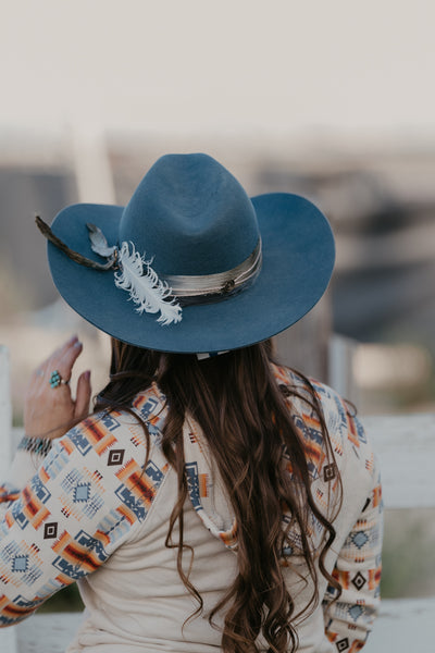
M263 251L254 283L225 299L184 307L177 324L164 326L156 315L138 313L128 293L115 286L113 271L85 268L48 243L54 284L85 320L139 347L187 354L237 349L264 341L300 320L319 301L332 275L335 248L326 218L303 197L268 194L253 197L252 204ZM99 226L113 245L123 210L74 205L59 213L52 231L71 249L101 262L90 249L86 223Z

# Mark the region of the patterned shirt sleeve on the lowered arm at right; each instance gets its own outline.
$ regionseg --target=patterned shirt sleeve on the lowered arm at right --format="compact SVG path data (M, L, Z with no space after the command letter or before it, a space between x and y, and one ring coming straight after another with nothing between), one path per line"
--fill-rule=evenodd
M348 419L353 432L363 433L356 418ZM365 457L365 468L371 486L333 570L341 594L336 599L337 591L330 586L323 600L326 636L337 651L346 653L363 648L380 604L383 504L381 475L373 454Z

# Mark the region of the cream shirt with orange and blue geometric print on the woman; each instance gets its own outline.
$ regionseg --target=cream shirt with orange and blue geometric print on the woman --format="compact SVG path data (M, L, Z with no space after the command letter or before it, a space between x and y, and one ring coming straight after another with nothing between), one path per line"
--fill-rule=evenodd
M274 370L279 384L307 393L294 372ZM378 606L380 477L360 422L334 391L318 382L313 386L334 463L327 460L320 423L309 404L289 397L288 405L307 446L312 494L330 517L337 513L337 470L340 475L343 503L334 520L337 537L326 567L343 592L333 602L335 590L319 574L321 601L297 624L298 650L355 653L362 649ZM132 416L117 411L90 416L57 440L47 455L41 449L29 452L28 442L18 449L10 478L0 489L0 625L22 620L51 594L77 581L87 609L71 653L215 653L221 636L209 626L207 613L236 574L231 508L198 426L186 420L189 501L184 538L195 550L191 581L204 600L204 611L182 632L197 604L179 580L176 550L165 546L177 480L160 445L164 397L152 385L136 397L133 408L150 433L145 470L142 429ZM285 453L283 463L291 473ZM323 533L315 519L309 531L320 544ZM297 533L291 544L291 565L284 566L283 574L296 614L312 587L298 556Z

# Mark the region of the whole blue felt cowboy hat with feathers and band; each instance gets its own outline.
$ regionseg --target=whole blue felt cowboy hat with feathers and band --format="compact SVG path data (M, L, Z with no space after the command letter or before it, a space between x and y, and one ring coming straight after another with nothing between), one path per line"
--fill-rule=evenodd
M49 238L53 281L110 335L163 352L236 349L302 318L334 266L330 224L309 200L249 198L207 155L167 155L126 207L63 209Z

